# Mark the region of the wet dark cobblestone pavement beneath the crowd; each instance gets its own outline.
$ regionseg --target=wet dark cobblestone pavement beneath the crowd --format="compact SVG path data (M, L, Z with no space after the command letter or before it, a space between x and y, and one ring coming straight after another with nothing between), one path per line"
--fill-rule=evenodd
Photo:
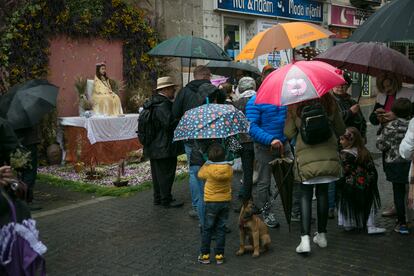
M375 137L375 129L370 127L369 131L369 137ZM371 138L369 146L375 152L373 141ZM380 168L378 152L374 156ZM238 189L236 183L237 179L234 194ZM392 190L383 174L379 184L384 209L391 204ZM281 227L270 230L269 252L257 259L235 256L239 241L237 214L231 212L232 233L227 235L226 263L200 265L196 261L200 244L198 222L187 215L191 204L187 182L175 185L174 194L185 201L183 208L166 210L153 206L152 192L146 191L40 217L41 238L48 246L48 275L412 275L414 272L414 235L393 232L393 219L380 216L377 224L388 230L384 235L345 232L336 226L336 219L329 220L328 247L321 249L312 244L310 256L296 254L299 224L293 222L289 232L280 199L276 200L275 208Z

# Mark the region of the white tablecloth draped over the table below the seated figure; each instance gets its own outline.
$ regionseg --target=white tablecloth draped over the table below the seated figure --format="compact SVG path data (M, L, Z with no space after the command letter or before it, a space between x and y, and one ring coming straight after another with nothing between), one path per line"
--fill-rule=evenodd
M137 138L138 114L124 117L60 117L62 126L83 127L89 142L119 141Z

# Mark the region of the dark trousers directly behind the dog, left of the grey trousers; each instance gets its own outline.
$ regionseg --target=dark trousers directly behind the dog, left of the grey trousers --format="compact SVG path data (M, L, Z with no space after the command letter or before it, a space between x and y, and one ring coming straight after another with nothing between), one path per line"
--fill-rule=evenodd
M243 169L243 185L239 191L239 199L246 201L252 196L253 188L253 165L254 165L254 147L253 142L243 143L240 151L240 158Z

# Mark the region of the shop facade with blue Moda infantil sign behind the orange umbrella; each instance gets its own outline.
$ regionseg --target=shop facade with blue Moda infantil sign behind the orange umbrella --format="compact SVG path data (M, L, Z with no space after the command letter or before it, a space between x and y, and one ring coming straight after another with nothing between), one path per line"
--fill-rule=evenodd
M205 1L207 2L207 1ZM204 4L204 37L221 45L233 59L257 33L278 23L306 21L323 25L326 3L314 0L211 0ZM325 14L325 16L324 16ZM220 35L217 35L220 34ZM327 48L321 40L312 46ZM254 61L279 67L291 60L290 51L269 53Z

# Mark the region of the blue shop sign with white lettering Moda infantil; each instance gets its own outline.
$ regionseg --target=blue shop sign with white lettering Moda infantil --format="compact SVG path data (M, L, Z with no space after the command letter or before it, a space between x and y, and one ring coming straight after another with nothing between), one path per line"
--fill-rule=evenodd
M293 20L323 20L323 3L312 0L216 0L219 10L260 15L284 17Z

